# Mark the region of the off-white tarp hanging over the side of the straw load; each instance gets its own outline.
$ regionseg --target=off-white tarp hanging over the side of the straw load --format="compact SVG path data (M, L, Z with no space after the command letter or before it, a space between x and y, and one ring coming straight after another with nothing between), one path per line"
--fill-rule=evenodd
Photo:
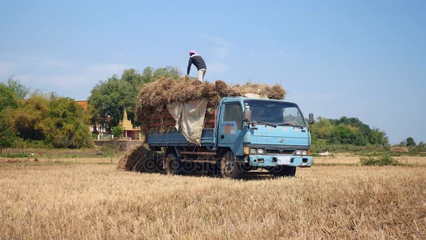
M176 121L176 130L181 129L188 142L200 145L207 100L173 102L167 104L167 109Z

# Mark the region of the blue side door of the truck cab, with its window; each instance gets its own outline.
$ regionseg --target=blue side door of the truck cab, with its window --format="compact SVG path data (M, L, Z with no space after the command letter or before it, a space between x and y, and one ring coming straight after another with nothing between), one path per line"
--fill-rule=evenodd
M240 102L228 102L221 106L218 146L231 147L236 156L242 156L242 107Z

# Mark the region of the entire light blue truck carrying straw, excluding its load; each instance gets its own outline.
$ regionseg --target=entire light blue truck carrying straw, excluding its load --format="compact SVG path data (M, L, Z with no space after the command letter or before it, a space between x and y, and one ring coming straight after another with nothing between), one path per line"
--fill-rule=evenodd
M151 151L163 151L168 175L206 170L223 178L241 178L263 168L276 176L294 176L296 167L310 167L310 131L298 105L262 98L222 98L214 126L203 128L200 144L180 131L146 134ZM313 114L309 114L313 124Z

